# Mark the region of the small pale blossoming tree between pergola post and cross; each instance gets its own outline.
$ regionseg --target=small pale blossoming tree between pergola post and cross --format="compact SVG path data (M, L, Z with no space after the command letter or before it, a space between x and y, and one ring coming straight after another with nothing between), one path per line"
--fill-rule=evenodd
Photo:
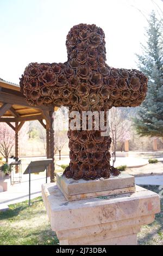
M67 131L55 131L54 141L55 149L59 151L59 160L61 160L61 150L64 148L64 145L68 143Z

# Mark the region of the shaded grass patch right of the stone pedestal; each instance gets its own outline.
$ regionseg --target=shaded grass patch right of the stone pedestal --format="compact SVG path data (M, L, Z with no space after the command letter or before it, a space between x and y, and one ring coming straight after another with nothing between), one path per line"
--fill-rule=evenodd
M143 186L148 190L159 193L159 186ZM163 196L163 193L162 193ZM155 221L144 225L138 235L139 245L163 245L163 198L161 198L161 212L155 215Z

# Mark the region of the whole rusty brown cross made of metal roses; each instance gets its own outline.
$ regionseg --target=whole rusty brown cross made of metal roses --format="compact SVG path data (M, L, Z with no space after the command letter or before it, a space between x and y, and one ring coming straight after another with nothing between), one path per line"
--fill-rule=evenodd
M30 63L20 79L30 105L68 106L70 111L108 111L136 107L145 100L148 78L135 69L110 68L106 63L105 35L96 25L79 24L66 38L65 63ZM109 136L101 130L70 130L70 165L64 175L73 179L109 178Z

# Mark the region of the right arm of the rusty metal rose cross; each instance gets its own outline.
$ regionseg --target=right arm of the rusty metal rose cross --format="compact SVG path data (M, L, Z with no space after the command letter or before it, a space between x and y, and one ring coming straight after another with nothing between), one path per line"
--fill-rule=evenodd
M109 69L110 75L105 80L105 84L110 89L109 105L115 107L139 106L146 97L148 78L135 69Z

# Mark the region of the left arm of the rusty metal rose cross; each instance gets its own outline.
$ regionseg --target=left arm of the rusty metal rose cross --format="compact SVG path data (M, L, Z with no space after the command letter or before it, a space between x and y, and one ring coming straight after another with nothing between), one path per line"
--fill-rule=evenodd
M71 84L77 83L74 75L74 69L66 63L30 63L20 78L21 92L32 106L68 106Z

